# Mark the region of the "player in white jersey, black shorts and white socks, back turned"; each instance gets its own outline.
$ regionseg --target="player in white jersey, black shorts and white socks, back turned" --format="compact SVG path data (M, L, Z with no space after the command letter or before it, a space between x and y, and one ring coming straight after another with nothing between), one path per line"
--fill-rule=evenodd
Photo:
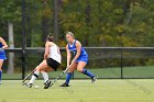
M48 35L45 43L44 60L35 68L35 71L29 83L24 83L28 88L32 88L36 78L42 73L44 78L44 89L51 87L47 72L56 71L61 65L62 56L58 46L53 42L54 36Z

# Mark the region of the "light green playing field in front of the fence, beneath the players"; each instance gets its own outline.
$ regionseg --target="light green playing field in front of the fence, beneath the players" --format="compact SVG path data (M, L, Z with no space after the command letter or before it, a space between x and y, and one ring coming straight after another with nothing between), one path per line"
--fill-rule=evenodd
M29 89L21 80L3 80L0 84L0 102L154 102L154 80L110 79L72 80L72 87L59 88L59 80L53 88L43 89L43 81L36 80L40 88Z

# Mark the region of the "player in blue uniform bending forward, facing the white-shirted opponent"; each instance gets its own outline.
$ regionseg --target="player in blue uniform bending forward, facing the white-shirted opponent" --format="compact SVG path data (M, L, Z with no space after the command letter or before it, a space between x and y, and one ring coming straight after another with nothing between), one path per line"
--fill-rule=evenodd
M68 42L68 44L66 45L67 67L70 65L72 66L66 75L66 81L61 87L69 87L69 80L72 79L75 69L84 75L87 75L91 79L91 82L95 82L97 77L85 68L88 63L87 52L81 46L80 42L75 39L72 32L66 33L66 39ZM73 60L70 61L72 57Z

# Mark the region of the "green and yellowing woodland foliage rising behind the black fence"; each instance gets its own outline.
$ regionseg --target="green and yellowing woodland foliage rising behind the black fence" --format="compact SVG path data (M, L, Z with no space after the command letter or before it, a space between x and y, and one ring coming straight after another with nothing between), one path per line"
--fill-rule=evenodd
M7 24L13 22L15 47L21 47L22 39L21 1L0 0L0 34L7 38ZM54 31L53 0L25 0L25 7L26 45L44 46L46 35ZM154 46L154 0L58 0L57 7L61 47L66 46L67 31L84 46ZM128 60L125 65L145 61Z

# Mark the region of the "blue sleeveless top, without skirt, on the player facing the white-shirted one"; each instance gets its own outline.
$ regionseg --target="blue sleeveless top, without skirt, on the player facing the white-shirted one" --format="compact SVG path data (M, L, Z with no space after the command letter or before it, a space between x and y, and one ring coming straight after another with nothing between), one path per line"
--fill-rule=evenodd
M73 43L73 45L68 44L68 49L69 49L69 52L73 54L73 57L75 57L76 54L77 54L76 39L75 39L75 42ZM85 48L82 48L82 47L80 48L80 56L79 56L79 58L80 58L80 57L88 57L87 52L86 52Z

